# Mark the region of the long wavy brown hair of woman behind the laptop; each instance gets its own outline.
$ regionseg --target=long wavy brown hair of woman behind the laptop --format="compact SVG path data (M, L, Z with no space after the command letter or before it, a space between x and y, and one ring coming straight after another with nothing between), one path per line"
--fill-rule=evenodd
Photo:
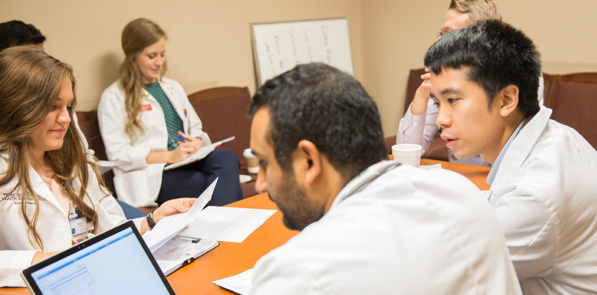
M32 133L56 104L60 90L67 80L72 83L75 94L72 68L42 49L16 46L0 52L0 154L7 159L8 165L7 170L0 172L0 187L16 180L15 186L8 188L8 193L21 194L21 214L27 225L27 237L31 245L41 251L44 250L44 245L36 230L39 200L29 178ZM75 104L76 98L72 106ZM72 116L73 111L70 110L70 117ZM104 187L94 157L88 157L83 141L75 128L75 122L71 120L62 147L46 151L44 156L54 170L52 179L97 229L96 210L84 201L85 197L90 198L87 195L90 181L88 167L96 173L100 188L106 195L109 192ZM75 191L71 184L77 179L81 188ZM27 204L30 201L33 201L34 206Z

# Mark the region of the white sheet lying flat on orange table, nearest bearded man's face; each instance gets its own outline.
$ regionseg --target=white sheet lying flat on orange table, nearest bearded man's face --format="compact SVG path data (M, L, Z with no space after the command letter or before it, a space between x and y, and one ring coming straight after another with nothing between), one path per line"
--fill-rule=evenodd
M276 210L207 207L180 235L241 243Z

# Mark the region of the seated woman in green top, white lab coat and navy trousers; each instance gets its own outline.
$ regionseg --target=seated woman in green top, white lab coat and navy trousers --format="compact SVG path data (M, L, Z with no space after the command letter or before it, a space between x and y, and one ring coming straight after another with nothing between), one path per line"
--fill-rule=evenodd
M108 158L116 162L118 198L136 207L179 197L198 197L216 178L208 206L242 199L239 161L230 150L164 172L166 164L187 159L210 144L184 89L166 72L164 31L145 18L122 31L125 60L121 78L101 95L101 137Z

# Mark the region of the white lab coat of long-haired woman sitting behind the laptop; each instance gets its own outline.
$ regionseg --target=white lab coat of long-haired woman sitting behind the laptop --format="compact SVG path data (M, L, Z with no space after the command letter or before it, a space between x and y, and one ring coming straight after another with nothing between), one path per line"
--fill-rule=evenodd
M7 169L5 156L0 159L0 171ZM91 167L90 167L91 169ZM29 179L33 191L37 194L39 204L39 219L37 232L44 245L44 252L63 251L72 247L72 235L68 216L58 203L50 188L42 181L33 167L29 166ZM91 198L85 198L85 203L96 209L99 217L97 232L103 232L126 221L124 213L116 200L100 191L95 173L90 170L87 192ZM33 256L39 252L27 238L27 225L21 215L21 195L17 192L6 194L16 184L14 179L10 184L0 188L0 287L26 287L20 277L21 271L31 265ZM80 184L73 182L73 187L78 190ZM27 198L29 198L27 200ZM33 216L35 206L28 195L24 199L29 205L29 216ZM140 220L137 222L140 225ZM33 236L31 236L33 237Z

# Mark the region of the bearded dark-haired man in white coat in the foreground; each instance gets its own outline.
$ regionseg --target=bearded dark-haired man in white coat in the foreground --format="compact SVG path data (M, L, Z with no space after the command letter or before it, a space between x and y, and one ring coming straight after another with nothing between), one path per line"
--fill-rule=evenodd
M257 191L301 232L261 257L251 294L520 294L481 191L386 161L376 104L352 76L304 64L250 106Z

